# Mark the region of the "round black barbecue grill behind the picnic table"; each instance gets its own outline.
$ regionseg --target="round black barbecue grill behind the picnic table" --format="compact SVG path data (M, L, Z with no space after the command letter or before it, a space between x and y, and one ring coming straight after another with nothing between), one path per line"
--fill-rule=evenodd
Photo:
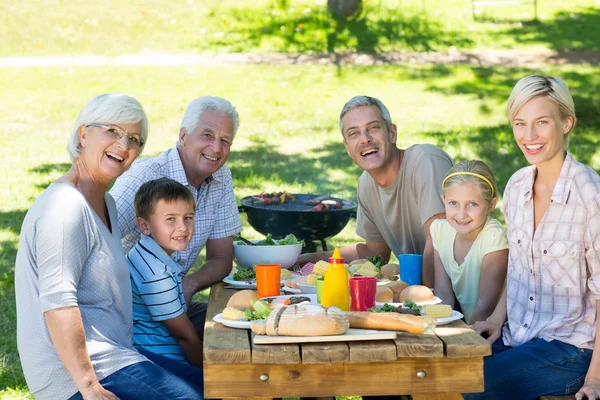
M313 205L305 204L320 195L293 194L294 201L282 204L264 204L256 196L247 196L240 200L240 212L248 216L248 223L258 232L270 233L274 239L281 239L293 233L299 240L304 240L306 247L303 251L316 250L315 241L321 242L323 250L327 250L325 239L337 235L348 223L356 218L356 203L337 197L327 197L342 205L341 208L315 211Z

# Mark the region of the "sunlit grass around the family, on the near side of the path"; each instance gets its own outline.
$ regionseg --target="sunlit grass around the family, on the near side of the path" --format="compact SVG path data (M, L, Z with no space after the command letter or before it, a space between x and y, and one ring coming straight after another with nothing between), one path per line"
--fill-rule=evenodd
M137 97L151 133L145 155L172 146L187 102L200 94L229 98L241 127L228 165L238 198L262 190L355 198L360 170L341 144L340 108L350 96L383 100L398 124L399 144L434 143L455 160L479 158L502 191L525 161L506 123L514 82L529 73L558 74L570 85L580 124L575 157L600 170L600 67L542 71L470 66L228 66L196 68L3 69L0 89L0 397L26 393L15 345L14 260L31 202L66 172L66 138L83 103L106 91ZM233 83L233 84L232 84ZM498 213L496 214L498 215ZM244 220L244 235L259 237ZM353 221L331 245L356 240ZM198 266L197 263L196 267ZM204 294L205 296L206 294Z

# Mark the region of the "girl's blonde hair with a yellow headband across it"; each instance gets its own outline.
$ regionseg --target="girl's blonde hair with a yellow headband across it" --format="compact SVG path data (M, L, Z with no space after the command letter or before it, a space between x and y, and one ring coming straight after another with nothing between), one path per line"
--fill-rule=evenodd
M488 204L498 197L498 187L496 186L494 174L483 161L465 160L450 168L450 171L446 174L446 179L442 183L442 193L445 196L446 188L465 183L472 183L477 186L481 192L481 197Z

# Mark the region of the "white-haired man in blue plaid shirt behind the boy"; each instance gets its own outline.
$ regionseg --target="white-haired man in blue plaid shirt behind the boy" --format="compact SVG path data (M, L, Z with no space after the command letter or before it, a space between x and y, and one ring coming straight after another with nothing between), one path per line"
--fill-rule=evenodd
M167 177L192 192L196 201L194 236L185 251L175 252L173 257L187 273L206 245L205 264L200 271L186 275L182 285L188 316L200 337L204 332L206 303L192 303L192 296L231 272L231 236L242 229L231 171L225 165L238 126L238 113L229 101L211 96L195 99L183 115L175 148L154 158L137 160L110 191L117 203L125 252L140 238L133 199L143 183Z

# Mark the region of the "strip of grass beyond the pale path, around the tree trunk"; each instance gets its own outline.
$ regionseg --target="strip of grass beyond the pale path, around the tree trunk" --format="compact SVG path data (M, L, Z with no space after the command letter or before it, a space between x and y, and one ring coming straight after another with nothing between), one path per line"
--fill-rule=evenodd
M539 0L478 9L470 0L364 0L348 22L325 0L175 3L0 0L0 56L146 52L446 51L549 48L600 51L600 0Z

